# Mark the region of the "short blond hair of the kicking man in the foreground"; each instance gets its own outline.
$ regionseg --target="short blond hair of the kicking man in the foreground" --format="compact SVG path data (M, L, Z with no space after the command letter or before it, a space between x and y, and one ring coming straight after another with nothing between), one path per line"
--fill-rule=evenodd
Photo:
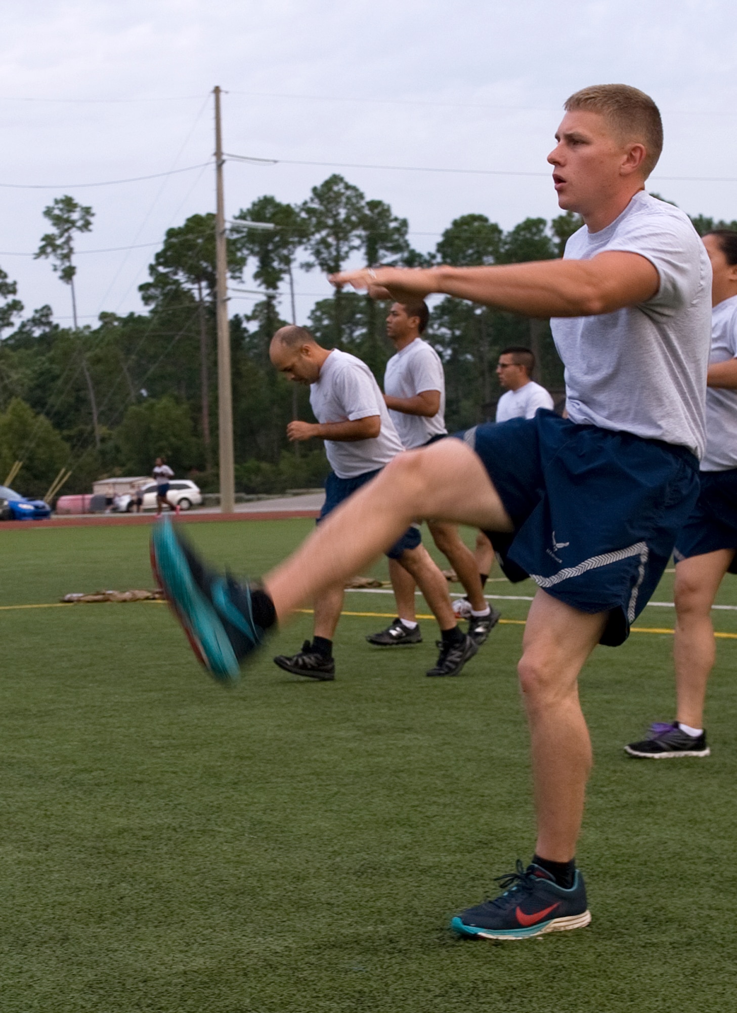
M650 95L629 84L594 84L581 88L564 103L566 112L583 109L604 116L623 140L645 145L645 178L655 168L663 150L663 122Z

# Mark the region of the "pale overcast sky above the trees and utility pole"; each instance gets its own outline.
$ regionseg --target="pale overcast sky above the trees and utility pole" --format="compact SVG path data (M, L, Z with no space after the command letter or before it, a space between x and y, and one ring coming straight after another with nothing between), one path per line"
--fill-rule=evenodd
M407 217L420 249L471 212L504 228L551 218L559 212L545 158L562 102L585 85L621 81L663 112L651 188L688 213L737 218L737 17L726 0L44 0L3 5L0 51L0 266L28 310L50 303L60 322L69 290L50 262L9 254L36 249L44 207L71 193L95 211L93 232L78 243L84 322L140 308L137 287L166 229L214 210L212 165L77 184L206 162L216 84L229 92L228 152L510 173L230 162L229 216L263 193L302 201L339 171ZM304 322L329 287L317 272L298 287ZM251 304L234 299L231 309Z

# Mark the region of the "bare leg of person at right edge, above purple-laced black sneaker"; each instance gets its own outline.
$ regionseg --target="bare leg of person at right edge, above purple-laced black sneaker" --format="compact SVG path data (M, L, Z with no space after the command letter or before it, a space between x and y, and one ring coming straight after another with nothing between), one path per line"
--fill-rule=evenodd
M676 720L691 728L704 726L707 682L716 656L712 605L733 558L734 549L720 549L675 565Z

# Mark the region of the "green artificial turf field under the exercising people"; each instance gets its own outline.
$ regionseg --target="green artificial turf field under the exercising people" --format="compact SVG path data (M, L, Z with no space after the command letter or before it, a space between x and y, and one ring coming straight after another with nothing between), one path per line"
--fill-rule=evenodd
M310 528L188 530L256 574ZM150 586L147 538L0 529L0 606ZM492 594L530 594L493 575ZM352 594L346 609L391 601ZM737 604L734 577L720 601ZM737 633L737 612L715 617ZM522 626L497 627L459 679L428 680L432 624L393 653L363 642L384 623L344 618L338 677L316 684L270 661L300 646L303 617L227 691L161 605L0 611L2 1013L737 1008L737 639L719 641L705 761L622 750L672 716L671 637L598 648L582 680L593 923L493 944L445 926L530 855ZM638 622L672 624L662 608Z

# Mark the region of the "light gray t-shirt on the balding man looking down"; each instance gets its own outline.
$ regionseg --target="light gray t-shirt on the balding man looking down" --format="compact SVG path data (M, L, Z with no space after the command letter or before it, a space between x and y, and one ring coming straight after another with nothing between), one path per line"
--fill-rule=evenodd
M382 430L373 440L325 441L325 453L338 478L376 471L402 452L379 384L355 356L333 348L310 387L310 404L319 422L352 422L381 415Z

